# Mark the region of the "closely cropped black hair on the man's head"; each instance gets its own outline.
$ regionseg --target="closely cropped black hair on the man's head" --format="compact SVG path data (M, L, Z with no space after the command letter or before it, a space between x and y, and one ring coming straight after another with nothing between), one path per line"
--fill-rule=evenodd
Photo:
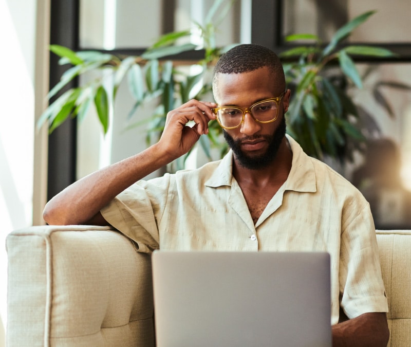
M285 89L284 69L277 54L267 47L256 44L242 44L221 54L214 67L213 93L217 90L218 74L241 74L267 66L276 78L276 83Z

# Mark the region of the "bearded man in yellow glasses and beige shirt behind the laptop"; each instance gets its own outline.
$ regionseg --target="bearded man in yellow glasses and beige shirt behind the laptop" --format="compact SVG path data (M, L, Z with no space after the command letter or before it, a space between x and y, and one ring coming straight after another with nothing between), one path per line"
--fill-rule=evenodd
M217 104L191 100L171 111L152 147L51 199L45 221L110 224L143 252L328 251L333 344L385 346L387 301L369 205L285 136L290 90L278 57L258 45L234 47L215 67L213 93ZM214 119L232 149L225 158L141 181L187 153ZM350 319L339 323L340 306Z

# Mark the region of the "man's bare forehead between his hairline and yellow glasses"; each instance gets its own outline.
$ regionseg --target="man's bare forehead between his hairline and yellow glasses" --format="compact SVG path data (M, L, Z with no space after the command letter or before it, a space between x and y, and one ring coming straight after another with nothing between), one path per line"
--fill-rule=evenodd
M282 84L268 67L240 74L215 76L214 98L220 105L250 105L258 100L280 95Z

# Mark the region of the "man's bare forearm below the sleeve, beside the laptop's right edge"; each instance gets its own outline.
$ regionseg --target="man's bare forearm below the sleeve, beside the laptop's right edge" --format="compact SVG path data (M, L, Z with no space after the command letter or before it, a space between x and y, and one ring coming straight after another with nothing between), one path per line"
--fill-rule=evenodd
M385 312L364 313L332 326L333 347L386 347L388 339Z

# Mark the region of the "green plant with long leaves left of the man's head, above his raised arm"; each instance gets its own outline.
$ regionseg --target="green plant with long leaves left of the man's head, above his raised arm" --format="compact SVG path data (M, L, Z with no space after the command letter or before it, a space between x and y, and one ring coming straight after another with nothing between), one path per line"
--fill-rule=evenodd
M215 35L218 24L223 21L235 0L216 0L209 10L204 25L194 23L200 32L202 47L187 42L192 35L190 30L171 32L162 35L157 42L145 50L141 56L116 56L100 51L74 52L67 47L51 45L50 50L60 57L59 64L70 64L70 67L61 77L60 82L49 92L48 98L61 93L66 85L80 75L90 72L93 76L99 71L97 78L91 78L84 85L70 88L52 102L40 117L38 126L46 121L49 131L60 126L69 116L77 117L81 121L89 111L95 107L104 134L109 126L109 110L116 101L120 84L127 80L128 89L135 103L129 112L127 129L146 125L146 142L153 141L164 128L166 114L178 105L190 99L202 99L211 92L210 69L219 56L231 48L217 47ZM203 57L196 62L177 65L173 56L185 51L202 48ZM191 75L186 72L187 67L196 66L197 73ZM134 122L133 115L140 105L156 100L157 107L153 115L144 121ZM220 146L217 137L220 134L218 124L210 124L208 136L201 136L200 145L204 153L211 160L210 148ZM155 140L155 139L154 139ZM226 146L221 148L226 152ZM176 168L183 165L182 160L176 161Z

